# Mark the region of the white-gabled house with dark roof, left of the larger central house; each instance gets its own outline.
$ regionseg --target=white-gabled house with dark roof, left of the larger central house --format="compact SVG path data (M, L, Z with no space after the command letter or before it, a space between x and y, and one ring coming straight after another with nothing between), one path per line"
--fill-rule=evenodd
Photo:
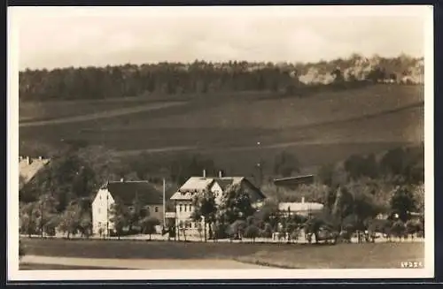
M114 229L112 219L112 206L120 200L129 209L137 200L149 215L163 222L163 197L161 192L145 180L109 181L101 187L92 202L92 232L94 234L108 234Z

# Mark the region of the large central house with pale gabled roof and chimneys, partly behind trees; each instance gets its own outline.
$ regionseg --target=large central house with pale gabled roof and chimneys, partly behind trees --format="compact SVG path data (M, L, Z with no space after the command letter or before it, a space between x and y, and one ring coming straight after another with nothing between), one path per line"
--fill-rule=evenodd
M168 216L175 217L175 225L185 224L188 229L197 228L197 224L191 220L194 211L192 200L197 194L202 194L206 190L214 193L216 205L220 205L224 192L233 185L241 186L249 194L255 207L260 207L266 198L260 189L253 186L245 177L222 177L220 174L218 178L206 178L205 175L204 172L203 177L191 177L170 198L175 204L175 214Z

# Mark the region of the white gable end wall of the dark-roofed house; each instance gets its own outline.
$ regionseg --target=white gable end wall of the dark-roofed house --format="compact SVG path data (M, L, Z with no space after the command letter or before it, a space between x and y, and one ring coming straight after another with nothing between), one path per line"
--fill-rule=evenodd
M110 210L114 203L113 195L107 189L100 189L92 202L92 232L99 235L113 229L110 219Z

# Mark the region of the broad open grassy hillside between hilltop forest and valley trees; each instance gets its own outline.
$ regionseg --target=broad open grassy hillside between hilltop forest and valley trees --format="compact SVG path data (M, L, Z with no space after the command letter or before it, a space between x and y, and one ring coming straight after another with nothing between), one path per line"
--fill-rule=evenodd
M172 106L152 97L24 103L20 154L34 142L82 140L115 148L122 156L142 150L157 159L183 150L203 152L234 174L251 171L260 159L272 162L283 149L311 167L424 140L422 86L265 96L181 96ZM48 121L38 122L42 119Z

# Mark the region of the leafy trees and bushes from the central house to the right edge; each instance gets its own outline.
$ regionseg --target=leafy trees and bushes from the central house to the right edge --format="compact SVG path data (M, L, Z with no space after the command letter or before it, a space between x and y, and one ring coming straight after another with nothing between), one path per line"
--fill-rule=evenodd
M410 219L410 213L417 209L416 203L424 200L423 185L398 186L389 192L387 202L379 202L366 185L352 183L344 188L328 187L325 194L315 200L325 204L323 211L312 217L279 211L278 202L272 198L259 210L255 210L251 207L247 194L233 186L228 189L227 196L218 207L211 192L196 196L193 221L201 222L203 219L205 240L206 227L209 229L209 238L214 240L229 237L231 240L248 238L254 241L258 237L271 238L277 233L279 240L291 241L298 240L302 231L308 240L312 235L315 235L315 240L319 240L322 227L329 228L330 232L337 232L336 236L338 232L346 232L345 239L349 239L354 232L359 232L359 241L361 234L368 230L371 235L373 232L384 232L397 237L403 237L405 233L424 233L424 218L421 221ZM315 186L324 185L311 185ZM380 213L388 216L397 213L399 218L377 220ZM369 237L367 235L367 240Z

